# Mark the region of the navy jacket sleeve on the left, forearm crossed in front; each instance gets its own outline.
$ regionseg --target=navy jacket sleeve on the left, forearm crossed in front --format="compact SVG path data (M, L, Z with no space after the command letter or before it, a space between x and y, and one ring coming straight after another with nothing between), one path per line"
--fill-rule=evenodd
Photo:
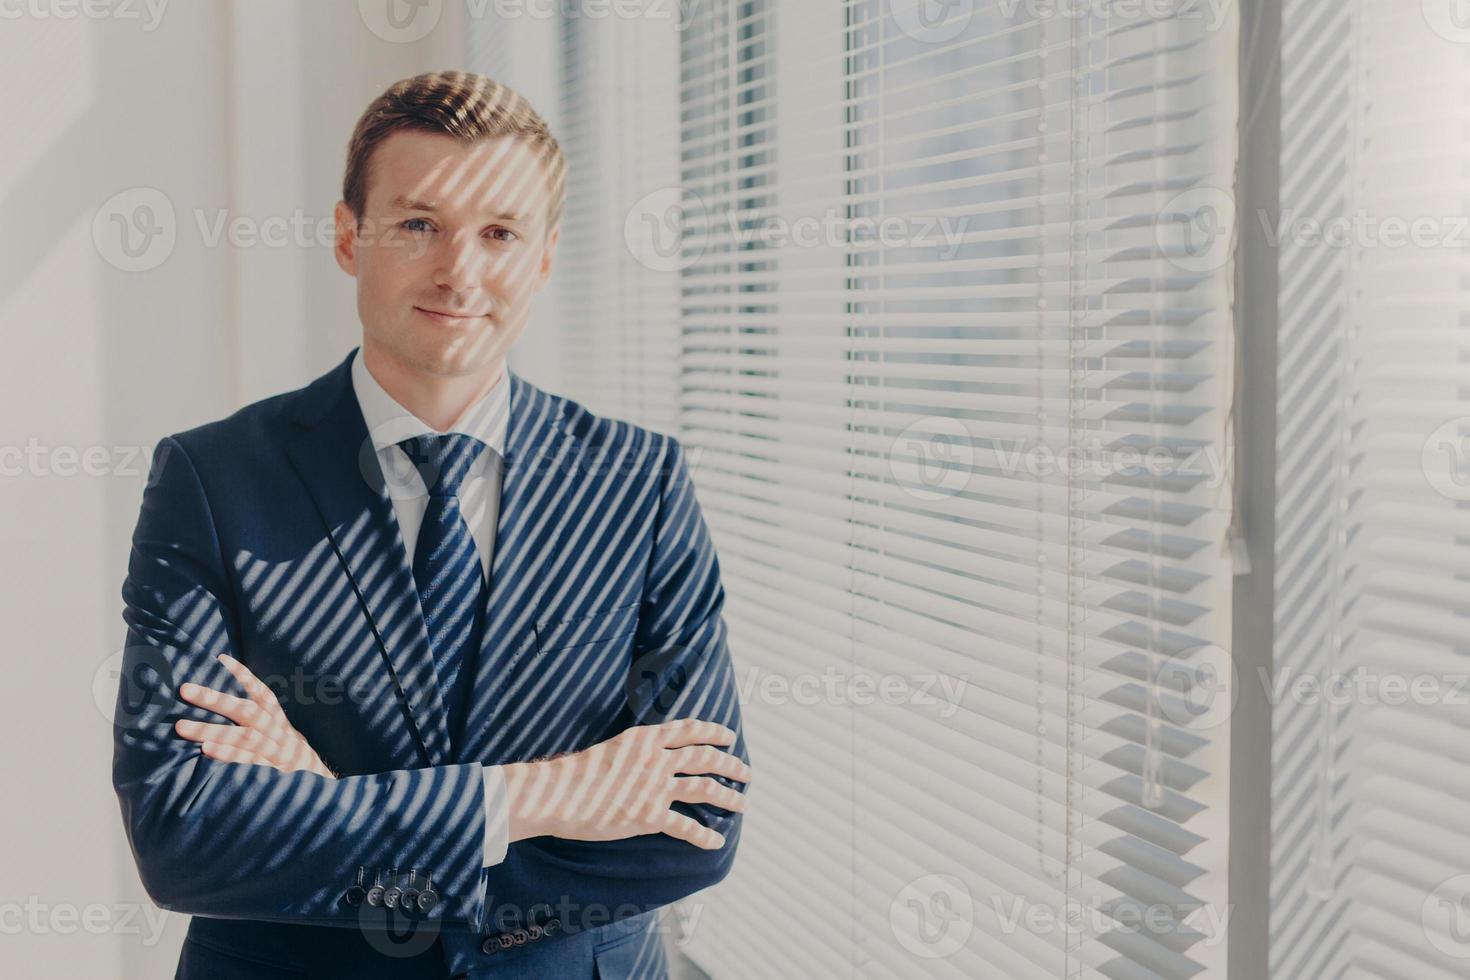
M360 927L345 901L359 867L432 874L447 929L478 929L484 780L478 763L325 779L222 763L179 736L193 680L234 691L216 660L238 660L238 614L210 504L178 438L153 455L122 586L128 626L113 716L113 788L148 896L219 918ZM395 880L395 883L401 883Z

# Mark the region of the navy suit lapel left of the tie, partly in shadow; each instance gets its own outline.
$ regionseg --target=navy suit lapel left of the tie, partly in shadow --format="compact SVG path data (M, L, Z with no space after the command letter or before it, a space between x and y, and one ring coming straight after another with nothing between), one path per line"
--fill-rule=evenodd
M398 517L353 392L354 356L359 351L303 392L294 411L301 429L287 453L372 621L419 752L429 765L444 765L448 726L429 635Z

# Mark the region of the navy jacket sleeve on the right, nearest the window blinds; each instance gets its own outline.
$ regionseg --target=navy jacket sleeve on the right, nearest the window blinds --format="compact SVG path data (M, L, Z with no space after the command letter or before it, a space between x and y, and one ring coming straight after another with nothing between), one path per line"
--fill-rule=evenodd
M719 721L739 736L729 751L750 763L726 645L719 563L675 439L664 439L657 469L662 492L629 663L628 704L603 738L676 718ZM744 783L716 779L744 789ZM717 883L735 860L741 814L709 804L678 802L675 810L719 830L725 846L706 851L662 833L623 840L517 840L506 861L485 870L487 923L504 927L545 915L550 908L563 926L576 930L645 912Z

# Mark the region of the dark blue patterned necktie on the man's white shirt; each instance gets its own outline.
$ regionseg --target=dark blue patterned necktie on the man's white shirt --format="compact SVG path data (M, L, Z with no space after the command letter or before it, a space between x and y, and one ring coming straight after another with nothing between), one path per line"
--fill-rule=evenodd
M434 651L440 696L448 714L450 745L463 730L473 654L485 626L485 574L475 539L460 513L459 491L476 457L479 439L457 432L419 435L398 442L429 491L413 550L413 582Z

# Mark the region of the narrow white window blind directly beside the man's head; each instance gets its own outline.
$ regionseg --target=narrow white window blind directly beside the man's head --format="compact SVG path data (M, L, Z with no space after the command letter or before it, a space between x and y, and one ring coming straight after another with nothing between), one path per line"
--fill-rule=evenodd
M650 6L660 12L656 4ZM629 247L672 248L660 210L679 163L678 19L560 19L567 203L553 288L556 357L594 411L675 429L678 278ZM637 207L642 195L651 204ZM641 222L654 222L653 226ZM657 254L657 251L654 251Z

